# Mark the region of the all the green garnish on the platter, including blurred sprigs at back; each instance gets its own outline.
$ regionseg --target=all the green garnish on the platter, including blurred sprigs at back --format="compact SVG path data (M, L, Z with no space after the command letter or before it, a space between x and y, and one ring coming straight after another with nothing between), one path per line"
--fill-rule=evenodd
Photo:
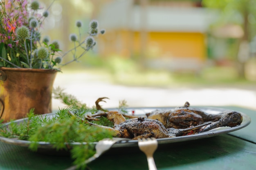
M84 161L95 153L93 142L112 138L115 134L110 130L92 126L84 120L86 114L97 111L95 108L86 107L75 96L63 92L60 87L54 89L54 94L69 107L59 110L52 117L37 116L32 109L24 122L17 124L11 121L8 128L0 126L0 136L31 141L29 148L33 151L38 149L38 142L52 143L56 150L70 150L74 164L85 168ZM124 107L126 101L121 101L119 109L124 110ZM75 116L70 115L70 111L74 112ZM94 123L113 126L106 117L99 119L100 121ZM81 145L72 145L73 142Z

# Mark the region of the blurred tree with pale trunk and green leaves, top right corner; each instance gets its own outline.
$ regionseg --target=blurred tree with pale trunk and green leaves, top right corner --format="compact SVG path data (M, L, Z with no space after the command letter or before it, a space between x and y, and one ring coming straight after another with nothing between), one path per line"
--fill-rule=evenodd
M241 78L245 78L245 63L249 59L249 42L255 36L256 0L202 0L204 7L220 9L218 26L235 24L243 29L239 38L237 61Z

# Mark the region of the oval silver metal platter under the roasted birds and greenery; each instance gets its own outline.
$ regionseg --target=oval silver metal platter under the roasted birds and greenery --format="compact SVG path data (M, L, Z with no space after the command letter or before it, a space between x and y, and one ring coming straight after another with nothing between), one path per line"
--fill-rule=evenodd
M227 109L222 109L222 108L216 108L216 107L197 107L200 110L202 110L203 112L206 112L208 114L218 114L220 112L224 112ZM169 110L169 109L173 109L173 107L141 107L141 108L128 108L128 114L132 114L134 113L134 115L137 116L145 116L146 113L151 112L153 110ZM198 133L198 134L191 134L191 135L186 135L186 136L178 136L178 137L170 137L170 138L162 138L162 139L157 139L158 144L168 144L168 143L175 143L175 142L182 142L182 141L190 141L190 140L195 140L195 139L202 139L202 138L208 138L208 137L212 137L212 136L217 136L220 134L225 134L225 133L229 133L229 132L233 132L242 128L245 128L247 125L249 125L249 123L251 122L251 119L249 118L249 116L247 116L244 113L241 113L243 116L243 122L235 127L219 127L219 128L215 128L213 130L209 130L207 132L202 132L202 133ZM55 113L49 113L49 114L43 114L41 116L45 117L52 117L54 116ZM14 123L23 123L24 121L27 121L27 118L25 119L19 119L14 121ZM9 123L4 123L2 124L2 126L6 126L8 127ZM13 144L13 145L19 145L19 146L23 146L23 147L29 147L30 145L30 141L23 141L23 140L18 140L18 139L9 139L9 138L5 138L0 136L0 141L4 142L4 143L9 143L9 144ZM96 144L97 142L95 142ZM38 143L38 150L54 150L54 147L51 143L49 142L39 142ZM83 143L78 143L78 142L73 142L70 143L70 145L81 145ZM128 141L119 141L117 143L115 143L112 148L123 148L123 147L134 147L138 145L138 141L137 140L128 140Z

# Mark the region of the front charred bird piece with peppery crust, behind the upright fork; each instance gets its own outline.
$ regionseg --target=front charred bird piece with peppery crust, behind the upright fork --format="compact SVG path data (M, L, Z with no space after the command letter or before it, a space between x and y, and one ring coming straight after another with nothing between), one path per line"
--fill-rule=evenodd
M169 137L167 129L160 121L144 117L128 119L113 128L120 132L121 136L118 137L130 139Z

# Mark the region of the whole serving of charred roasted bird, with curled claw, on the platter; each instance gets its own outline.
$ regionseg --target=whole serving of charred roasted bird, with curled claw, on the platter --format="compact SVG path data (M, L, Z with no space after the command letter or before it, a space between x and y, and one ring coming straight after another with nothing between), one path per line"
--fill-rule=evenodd
M207 114L199 109L189 107L189 102L186 102L183 107L147 113L147 118L134 118L134 116L127 116L118 111L103 110L98 104L102 99L104 98L96 101L97 109L100 111L85 116L83 121L109 129L118 137L130 139L184 136L205 132L220 126L234 127L243 121L243 116L239 112L225 111L219 114ZM69 113L75 116L74 113ZM106 116L114 122L114 126L111 128L90 122L99 120L97 119L99 116ZM130 119L126 119L125 116Z

